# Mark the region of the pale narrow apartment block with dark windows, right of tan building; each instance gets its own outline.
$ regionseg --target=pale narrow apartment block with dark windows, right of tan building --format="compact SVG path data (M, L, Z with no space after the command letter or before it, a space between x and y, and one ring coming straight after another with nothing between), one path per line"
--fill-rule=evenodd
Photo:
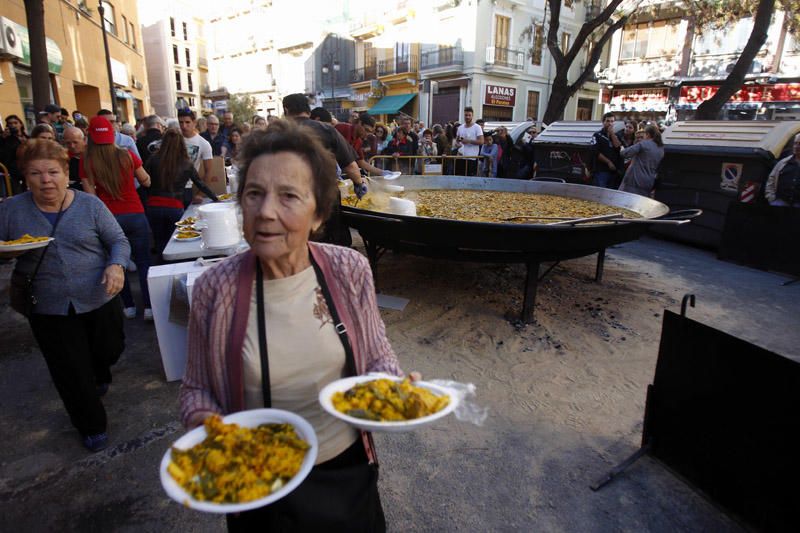
M142 38L150 100L155 112L174 117L189 108L200 115L208 85L205 2L141 0Z

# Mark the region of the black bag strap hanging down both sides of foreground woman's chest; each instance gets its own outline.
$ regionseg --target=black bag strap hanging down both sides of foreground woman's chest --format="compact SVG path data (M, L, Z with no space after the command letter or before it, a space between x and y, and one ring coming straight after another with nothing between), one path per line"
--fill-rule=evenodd
M344 348L345 374L347 376L355 376L356 360L353 355L353 348L350 346L350 339L347 337L347 328L339 318L339 313L336 311L336 306L333 303L333 298L331 298L325 276L322 275L322 270L317 262L314 261L314 256L309 254L309 259L311 259L311 265L314 267L317 283L322 289L322 296L328 305L328 311L331 313L331 318L333 318L333 327L336 329L336 333L339 334L339 340ZM258 351L261 356L261 392L264 395L264 407L272 407L269 382L269 352L267 350L267 323L266 312L264 311L264 273L261 270L261 261L258 258L256 258L256 309L258 313Z

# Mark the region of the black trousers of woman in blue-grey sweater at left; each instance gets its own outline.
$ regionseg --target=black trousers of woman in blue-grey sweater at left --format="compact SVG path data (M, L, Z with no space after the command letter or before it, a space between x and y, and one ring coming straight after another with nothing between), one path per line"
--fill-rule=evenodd
M33 314L28 319L72 425L83 436L106 431L96 386L111 383L111 365L125 348L119 298L88 313Z

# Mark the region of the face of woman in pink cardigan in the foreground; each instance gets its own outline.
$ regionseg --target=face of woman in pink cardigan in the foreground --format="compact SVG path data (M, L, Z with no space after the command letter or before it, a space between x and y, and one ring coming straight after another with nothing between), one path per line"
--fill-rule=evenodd
M262 155L250 164L241 199L244 238L261 260L307 253L308 237L322 223L313 179L311 166L293 152Z

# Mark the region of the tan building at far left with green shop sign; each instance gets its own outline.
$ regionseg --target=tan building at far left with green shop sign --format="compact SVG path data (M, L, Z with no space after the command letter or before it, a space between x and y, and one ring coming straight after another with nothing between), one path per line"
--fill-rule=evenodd
M93 116L114 109L123 122L150 112L147 74L136 0L103 2L114 98L109 87L102 27L96 3L45 0L50 102ZM25 6L0 0L0 115L35 122Z

